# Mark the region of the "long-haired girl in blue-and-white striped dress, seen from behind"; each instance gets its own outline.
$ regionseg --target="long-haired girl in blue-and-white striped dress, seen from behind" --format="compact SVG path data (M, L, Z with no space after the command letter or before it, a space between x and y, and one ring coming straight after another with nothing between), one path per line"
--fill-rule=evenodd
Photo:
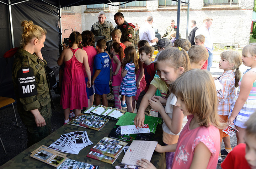
M134 46L127 46L124 49L125 57L122 60L122 83L120 85L121 95L126 97L127 111L134 112L137 86L135 74L138 73L138 56Z

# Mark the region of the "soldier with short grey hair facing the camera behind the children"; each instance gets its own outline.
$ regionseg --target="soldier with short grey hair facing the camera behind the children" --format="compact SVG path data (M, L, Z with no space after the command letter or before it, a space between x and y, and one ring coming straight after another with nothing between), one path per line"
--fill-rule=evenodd
M98 22L92 24L91 32L95 36L106 36L106 41L111 40L111 31L114 29L111 22L106 19L106 13L101 11L98 13Z

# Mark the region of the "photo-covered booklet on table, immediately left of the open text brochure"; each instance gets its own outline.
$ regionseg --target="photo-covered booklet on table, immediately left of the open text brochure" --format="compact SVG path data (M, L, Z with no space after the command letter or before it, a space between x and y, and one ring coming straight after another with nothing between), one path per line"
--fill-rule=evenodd
M91 148L91 151L115 158L123 150L123 146L126 145L126 142L104 137Z

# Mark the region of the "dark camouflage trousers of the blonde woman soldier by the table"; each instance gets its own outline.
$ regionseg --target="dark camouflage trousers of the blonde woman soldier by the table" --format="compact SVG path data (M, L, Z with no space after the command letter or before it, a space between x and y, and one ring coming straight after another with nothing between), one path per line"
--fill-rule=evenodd
M52 133L52 118L44 119L46 125L43 127L37 127L34 125L26 125L27 127L27 148L32 146L34 143L41 141L44 137Z

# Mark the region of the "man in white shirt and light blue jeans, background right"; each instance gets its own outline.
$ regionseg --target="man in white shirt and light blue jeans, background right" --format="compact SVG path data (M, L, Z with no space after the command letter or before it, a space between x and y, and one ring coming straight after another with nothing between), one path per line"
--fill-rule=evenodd
M203 20L203 26L201 28L198 28L196 30L197 35L204 35L205 37L205 42L204 42L204 47L207 48L209 57L208 57L208 65L207 65L207 70L210 71L210 67L212 67L212 60L213 60L213 35L212 35L212 30L210 29L210 26L212 25L212 18L206 17Z

